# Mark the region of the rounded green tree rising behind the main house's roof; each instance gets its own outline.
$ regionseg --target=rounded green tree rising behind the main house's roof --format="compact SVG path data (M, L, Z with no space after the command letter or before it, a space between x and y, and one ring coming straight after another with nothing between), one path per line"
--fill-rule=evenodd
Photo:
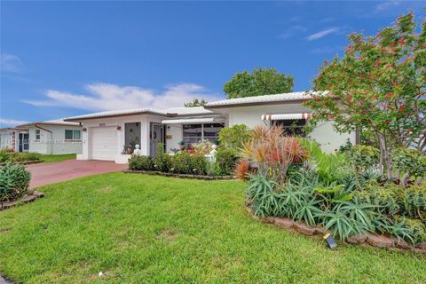
M239 72L225 83L227 99L256 97L293 91L293 77L278 73L273 68L255 68Z

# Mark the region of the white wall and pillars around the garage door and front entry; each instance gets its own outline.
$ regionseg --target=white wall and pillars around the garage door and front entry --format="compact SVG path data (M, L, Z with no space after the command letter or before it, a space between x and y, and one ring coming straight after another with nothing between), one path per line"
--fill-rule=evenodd
M95 127L108 127L113 126L120 128L117 131L117 147L116 154L121 154L125 144L125 123L128 122L139 122L140 128L140 150L141 154L150 154L149 145L149 131L150 122L161 123L165 118L162 116L142 114L142 115L129 115L121 117L107 117L87 120L83 122L83 154L79 155L79 159L91 160L91 133Z

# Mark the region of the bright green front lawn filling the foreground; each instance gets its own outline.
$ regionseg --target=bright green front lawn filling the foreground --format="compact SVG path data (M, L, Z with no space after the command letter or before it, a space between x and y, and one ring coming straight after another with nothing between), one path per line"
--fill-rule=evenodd
M426 282L426 256L257 222L238 181L112 173L40 191L0 212L0 272L19 282Z

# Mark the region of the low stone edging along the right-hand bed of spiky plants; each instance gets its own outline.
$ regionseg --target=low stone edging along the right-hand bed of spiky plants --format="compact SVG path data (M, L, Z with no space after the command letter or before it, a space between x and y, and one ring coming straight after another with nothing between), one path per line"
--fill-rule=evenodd
M248 214L264 224L275 225L290 232L302 233L307 236L324 235L326 232L320 226L310 227L304 222L294 221L290 218L282 217L258 217L255 211L248 206L245 207ZM391 237L385 234L370 233L368 235L351 236L343 244L358 244L360 246L370 245L375 248L386 248L389 250L412 251L416 253L426 254L426 243L420 243L417 246L400 241L396 237Z

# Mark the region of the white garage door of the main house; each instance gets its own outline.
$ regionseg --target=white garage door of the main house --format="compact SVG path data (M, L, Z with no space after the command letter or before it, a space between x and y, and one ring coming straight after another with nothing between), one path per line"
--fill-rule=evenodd
M117 154L117 130L115 127L95 127L91 130L91 158L114 161Z

